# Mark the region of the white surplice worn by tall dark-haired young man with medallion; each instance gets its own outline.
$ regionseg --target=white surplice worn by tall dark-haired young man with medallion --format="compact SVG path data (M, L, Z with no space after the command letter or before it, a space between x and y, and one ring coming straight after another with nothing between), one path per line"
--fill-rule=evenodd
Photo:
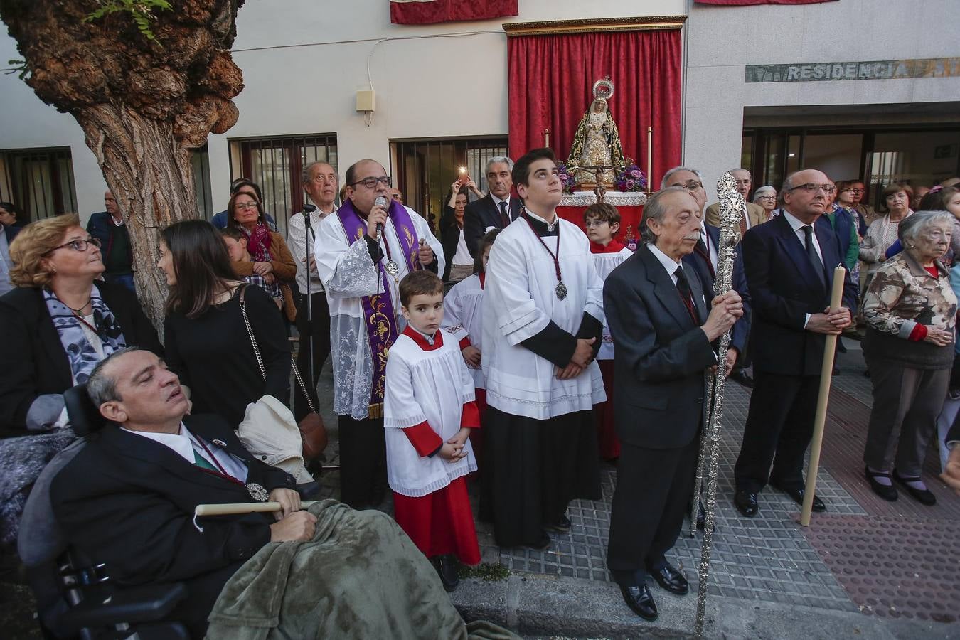
M520 344L553 320L576 334L584 312L604 320L603 281L587 236L560 220L560 266L567 296L556 295L553 258L523 221L500 232L487 265L483 303L483 371L487 404L510 415L545 420L585 411L603 402L600 367L590 363L572 380L558 380L553 363ZM556 252L557 237L542 238Z

